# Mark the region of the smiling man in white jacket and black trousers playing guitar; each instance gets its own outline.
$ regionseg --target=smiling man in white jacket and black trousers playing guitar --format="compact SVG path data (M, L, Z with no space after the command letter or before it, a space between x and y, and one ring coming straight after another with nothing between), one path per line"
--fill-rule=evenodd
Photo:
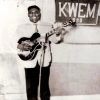
M33 5L28 7L28 17L30 22L25 24L18 29L19 37L32 37L39 38L41 48L38 50L36 56L32 60L23 61L25 67L26 76L26 92L28 100L38 100L38 86L40 83L40 98L41 100L50 100L50 89L49 89L49 75L50 66L52 62L50 40L48 39L45 43L43 52L43 45L45 42L45 34L52 30L52 25L41 22L41 10L38 6ZM58 43L61 41L61 31L58 29L51 40ZM51 32L51 33L52 33ZM18 41L17 48L21 51L28 51L31 49L29 41L21 42ZM44 59L42 59L44 53ZM43 63L43 64L41 64Z

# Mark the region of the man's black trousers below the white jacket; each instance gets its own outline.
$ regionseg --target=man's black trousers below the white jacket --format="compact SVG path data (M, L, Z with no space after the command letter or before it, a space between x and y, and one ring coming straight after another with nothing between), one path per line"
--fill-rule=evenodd
M37 100L39 85L40 66L25 68L26 92L28 100ZM41 100L50 100L49 89L50 66L41 68L40 97Z

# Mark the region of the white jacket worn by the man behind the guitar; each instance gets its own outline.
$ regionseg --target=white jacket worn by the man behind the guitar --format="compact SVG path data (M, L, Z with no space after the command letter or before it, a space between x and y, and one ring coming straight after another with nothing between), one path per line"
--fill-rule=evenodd
M38 33L41 36L45 37L45 34L49 31L51 31L52 25L49 24L49 23L38 22L37 23L37 29L38 29ZM35 32L36 32L36 24L29 22L27 24L21 25L17 29L17 40L19 40L22 37L30 38L32 36L32 34L34 34ZM25 68L34 68L37 61L39 62L39 64L41 64L41 62L42 62L41 61L41 59L42 59L41 55L42 55L42 49L38 51L37 56L33 60L24 61L24 60L21 60L18 57L18 63L20 63ZM51 52L50 52L50 48L47 47L46 50L45 50L43 67L48 66L50 61L51 61Z

